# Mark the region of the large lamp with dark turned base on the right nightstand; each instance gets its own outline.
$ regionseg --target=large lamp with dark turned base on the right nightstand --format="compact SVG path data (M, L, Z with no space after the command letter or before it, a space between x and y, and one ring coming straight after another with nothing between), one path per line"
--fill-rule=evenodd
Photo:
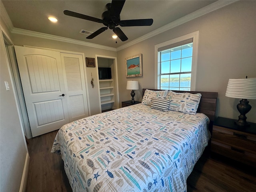
M248 113L252 106L247 99L256 99L256 78L244 78L244 79L229 79L226 90L226 96L231 98L242 98L240 103L237 104L237 109L240 112L238 120L235 124L241 127L249 126L246 122Z

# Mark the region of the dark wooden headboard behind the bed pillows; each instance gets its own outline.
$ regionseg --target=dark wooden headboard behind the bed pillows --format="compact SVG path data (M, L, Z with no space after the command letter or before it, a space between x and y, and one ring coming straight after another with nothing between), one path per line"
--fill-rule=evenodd
M142 89L142 97L145 93L146 89ZM149 89L154 91L160 91L160 89ZM201 91L173 91L177 93L201 93L202 97L200 99L200 103L197 109L198 113L204 113L209 117L210 121L214 121L215 119L215 111L216 111L216 101L218 97L217 92L201 92Z

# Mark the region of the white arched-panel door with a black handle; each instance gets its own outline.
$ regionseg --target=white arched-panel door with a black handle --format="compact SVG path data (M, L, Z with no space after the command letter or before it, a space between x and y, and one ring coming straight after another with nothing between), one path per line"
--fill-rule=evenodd
M14 48L32 136L70 122L60 52Z

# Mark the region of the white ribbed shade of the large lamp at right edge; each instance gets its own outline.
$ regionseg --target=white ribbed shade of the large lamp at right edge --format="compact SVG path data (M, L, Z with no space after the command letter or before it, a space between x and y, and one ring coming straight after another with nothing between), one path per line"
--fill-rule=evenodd
M256 99L256 78L229 79L226 96L240 99Z

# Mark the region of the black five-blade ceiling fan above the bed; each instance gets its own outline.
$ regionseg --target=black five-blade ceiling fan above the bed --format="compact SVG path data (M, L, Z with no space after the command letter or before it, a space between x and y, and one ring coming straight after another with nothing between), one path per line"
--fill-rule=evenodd
M116 27L118 25L122 27L128 27L128 26L150 26L153 23L153 19L132 19L132 20L120 20L120 13L122 11L122 8L124 6L125 0L112 0L111 3L106 4L107 11L102 13L101 18L98 19L95 17L87 16L84 14L76 13L69 10L64 10L64 14L72 17L77 17L93 22L103 23L106 27L102 27L96 32L92 33L87 39L92 39L96 37L97 35L101 34L108 28L112 29L113 32L120 38L122 41L128 40L127 36L122 32L122 30L119 27Z

